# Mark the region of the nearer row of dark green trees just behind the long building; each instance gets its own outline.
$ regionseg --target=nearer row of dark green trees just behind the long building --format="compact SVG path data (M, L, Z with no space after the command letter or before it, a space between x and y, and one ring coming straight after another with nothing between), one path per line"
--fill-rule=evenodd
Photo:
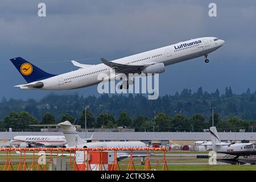
M64 114L60 121L56 121L55 116L51 113L45 113L42 121L38 121L27 111L11 112L7 115L3 121L0 122L1 130L7 130L10 127L13 131L29 131L28 125L37 124L54 124L57 122L70 121L73 122L75 118L71 114ZM256 131L256 122L246 121L237 117L230 117L227 120L221 120L218 118L218 114L213 114L214 126L218 131ZM82 128L85 127L85 110L82 110L79 117L78 125ZM127 113L122 111L117 118L109 113L100 113L94 118L93 114L89 110L86 110L86 125L88 128L117 128L118 126L134 128L135 131L155 131L155 132L201 132L204 129L209 129L212 125L212 115L209 119L205 119L201 114L194 114L192 118L185 117L182 113L176 114L174 117L169 117L165 113L158 113L154 118L149 119L146 116L138 115L132 119ZM35 131L35 129L34 129Z

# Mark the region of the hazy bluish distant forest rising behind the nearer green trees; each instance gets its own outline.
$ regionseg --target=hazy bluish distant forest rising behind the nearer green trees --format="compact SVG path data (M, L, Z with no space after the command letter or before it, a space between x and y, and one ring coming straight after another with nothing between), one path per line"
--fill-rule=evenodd
M142 94L101 94L98 97L49 94L40 100L24 101L13 98L7 100L3 97L0 102L0 119L5 118L11 111L28 111L39 121L46 112L53 114L57 120L61 119L63 113L78 118L85 105L90 106L94 117L100 113L110 113L117 118L122 111L125 111L131 118L138 115L154 118L156 111L156 113L166 113L170 117L182 112L189 118L195 113L207 118L211 114L210 107L214 106L216 107L214 112L218 113L221 119L235 115L241 119L256 120L256 92L247 89L244 93L235 94L230 87L225 89L224 94L220 94L218 89L208 93L201 87L196 92L185 88L180 93L160 96L157 100L148 100Z

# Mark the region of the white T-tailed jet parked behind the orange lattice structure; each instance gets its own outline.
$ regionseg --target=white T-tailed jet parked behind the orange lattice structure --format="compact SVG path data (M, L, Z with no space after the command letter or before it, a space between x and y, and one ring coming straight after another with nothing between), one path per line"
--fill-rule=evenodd
M65 138L67 139L68 148L146 148L143 142L86 142L80 138L73 125L69 121L59 123ZM134 150L133 157L141 157L142 164L144 158L147 156L147 151ZM130 157L130 151L117 151L117 159L125 159Z

